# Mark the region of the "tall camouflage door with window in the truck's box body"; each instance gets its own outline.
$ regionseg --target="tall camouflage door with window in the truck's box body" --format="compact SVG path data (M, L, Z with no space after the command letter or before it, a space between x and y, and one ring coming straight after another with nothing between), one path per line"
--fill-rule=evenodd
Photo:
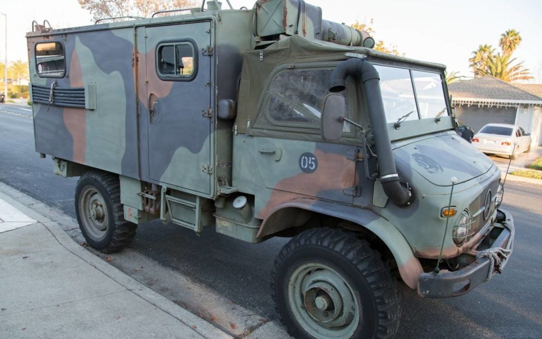
M213 189L211 34L210 21L137 30L142 167L151 181L203 196Z

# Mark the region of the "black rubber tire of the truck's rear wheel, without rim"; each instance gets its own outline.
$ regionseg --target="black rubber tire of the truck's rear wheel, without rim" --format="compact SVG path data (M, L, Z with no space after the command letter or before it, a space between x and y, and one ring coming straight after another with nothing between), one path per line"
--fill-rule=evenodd
M102 231L104 234L101 236L92 234L92 230L88 229L92 227L89 226L89 221L83 222L85 215L88 219L88 212L82 210L81 199L84 199L88 191L95 191L103 198L107 218L104 218L106 229ZM91 170L83 174L75 189L75 214L87 244L100 252L118 252L128 246L135 236L137 225L124 219L118 175L99 170Z

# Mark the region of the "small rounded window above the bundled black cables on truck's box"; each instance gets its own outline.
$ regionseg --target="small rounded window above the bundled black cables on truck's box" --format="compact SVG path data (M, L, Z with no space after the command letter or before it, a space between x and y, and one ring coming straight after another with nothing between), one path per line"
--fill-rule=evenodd
M62 43L36 43L36 71L40 78L63 78L66 74L65 59Z

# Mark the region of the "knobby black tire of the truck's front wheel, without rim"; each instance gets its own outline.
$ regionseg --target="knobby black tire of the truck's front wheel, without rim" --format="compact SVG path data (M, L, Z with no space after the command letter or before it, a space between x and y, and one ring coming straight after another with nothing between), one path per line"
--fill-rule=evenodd
M272 271L272 297L290 335L298 339L319 337L304 329L288 299L291 274L296 267L311 262L332 267L345 283L355 286L354 298L358 298L362 310L356 331L348 337L389 338L396 334L401 305L395 279L380 260L380 254L352 233L315 228L290 240L275 259Z

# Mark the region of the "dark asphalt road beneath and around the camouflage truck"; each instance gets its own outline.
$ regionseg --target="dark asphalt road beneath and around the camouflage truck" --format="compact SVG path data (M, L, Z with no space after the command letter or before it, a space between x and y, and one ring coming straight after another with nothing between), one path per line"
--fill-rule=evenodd
M74 214L76 178L52 174L50 157L34 151L29 108L0 104L0 181ZM467 295L422 299L401 285L401 338L542 337L542 186L507 181L502 208L514 217L515 247L504 274ZM206 229L201 236L176 225L148 222L138 227L133 250L209 287L268 319L270 270L287 239L262 244ZM157 277L160 279L160 277Z

